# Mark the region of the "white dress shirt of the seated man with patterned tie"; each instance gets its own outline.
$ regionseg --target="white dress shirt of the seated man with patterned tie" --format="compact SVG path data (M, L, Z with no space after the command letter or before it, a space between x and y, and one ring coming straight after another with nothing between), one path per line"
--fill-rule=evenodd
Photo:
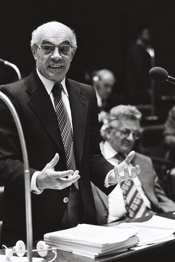
M118 165L118 159L115 157L117 152L112 148L112 146L106 141L104 142L104 156L112 165ZM148 198L146 197L140 179L138 176L133 178L134 185L139 191L145 205L150 209L151 204ZM107 223L112 223L113 221L119 219L127 213L124 204L124 198L120 183L117 184L115 189L108 195L108 218Z

